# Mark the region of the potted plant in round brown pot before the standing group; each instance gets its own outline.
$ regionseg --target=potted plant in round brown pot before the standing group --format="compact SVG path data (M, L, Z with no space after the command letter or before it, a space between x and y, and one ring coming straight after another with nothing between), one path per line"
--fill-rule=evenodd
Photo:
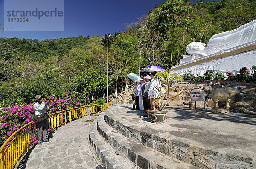
M171 99L173 99L176 96L179 96L181 93L183 93L183 90L182 90L176 96L170 97L169 96L169 87L171 85L170 82L173 82L173 81L183 82L184 79L182 76L178 75L177 73L170 73L167 70L157 72L154 77L157 77L157 78L155 78L155 80L158 81L158 83L157 83L158 85L153 87L152 91L158 90L159 92L158 92L158 96L154 96L154 110L147 110L147 112L148 112L148 117L151 122L163 123L166 118L166 113L167 113L167 111L164 110L164 107L166 107L166 105L170 101L172 101ZM167 89L165 89L161 85L162 83L165 83L165 82L167 83ZM167 93L166 93L166 91L167 91ZM168 97L168 100L166 102L163 102L163 98L164 98L163 95L165 95L165 93ZM159 110L156 110L155 105L158 100L159 100Z

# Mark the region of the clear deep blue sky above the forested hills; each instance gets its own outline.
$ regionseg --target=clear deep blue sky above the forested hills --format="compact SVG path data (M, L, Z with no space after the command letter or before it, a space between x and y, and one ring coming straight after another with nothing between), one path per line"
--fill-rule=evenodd
M148 14L166 0L65 0L63 32L0 32L0 37L52 39L76 36L104 36L125 29L125 23ZM197 0L190 0L191 2ZM207 0L212 1L212 0ZM217 0L219 1L219 0ZM0 0L0 24L4 21L4 0Z

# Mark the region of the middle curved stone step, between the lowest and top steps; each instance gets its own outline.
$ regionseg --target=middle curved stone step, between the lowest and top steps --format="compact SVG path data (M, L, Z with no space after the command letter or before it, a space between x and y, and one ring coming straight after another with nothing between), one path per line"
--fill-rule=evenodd
M198 169L126 138L106 124L103 116L98 119L97 130L117 153L142 169Z

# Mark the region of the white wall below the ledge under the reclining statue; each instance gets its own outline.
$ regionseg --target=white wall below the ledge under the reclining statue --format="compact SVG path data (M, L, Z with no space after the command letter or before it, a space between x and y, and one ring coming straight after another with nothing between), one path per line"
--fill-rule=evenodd
M223 73L227 76L227 72L230 71L234 75L239 73L239 69L247 67L250 71L252 66L256 66L256 49L242 52L239 54L233 54L230 56L225 56L219 59L210 60L197 65L192 65L186 68L180 68L177 70L172 70L172 73L185 74L192 73L195 76L204 76L207 70L213 70L214 73ZM178 67L177 67L178 68Z

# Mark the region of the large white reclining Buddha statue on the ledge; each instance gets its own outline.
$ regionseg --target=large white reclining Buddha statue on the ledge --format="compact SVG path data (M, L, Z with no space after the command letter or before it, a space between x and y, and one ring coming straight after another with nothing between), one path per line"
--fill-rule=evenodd
M205 43L192 42L186 47L188 54L197 59L211 54L223 54L247 45L256 43L256 20L240 26L232 31L213 35L205 46Z

